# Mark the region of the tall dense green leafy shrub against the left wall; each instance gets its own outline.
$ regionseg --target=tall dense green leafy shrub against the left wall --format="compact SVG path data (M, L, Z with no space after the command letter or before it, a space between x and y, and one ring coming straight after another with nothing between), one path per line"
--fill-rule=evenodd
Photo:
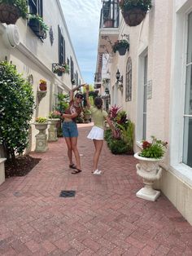
M32 86L15 66L0 63L0 143L7 159L14 160L28 144L29 121L32 119L34 96Z

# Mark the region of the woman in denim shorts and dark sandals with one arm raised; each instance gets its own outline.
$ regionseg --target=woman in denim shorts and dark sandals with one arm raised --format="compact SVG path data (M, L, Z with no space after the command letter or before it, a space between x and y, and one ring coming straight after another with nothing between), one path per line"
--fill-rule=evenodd
M84 86L84 85L81 85ZM82 106L81 102L83 99L83 95L81 93L76 93L75 98L73 99L74 91L81 88L81 86L76 86L74 89L70 91L70 103L69 108L63 113L62 117L63 121L63 137L68 146L68 159L69 159L69 167L74 169L72 174L78 174L81 172L81 162L80 162L80 154L77 149L77 137L78 130L76 126L76 117L81 114ZM76 158L76 165L72 161L72 152Z

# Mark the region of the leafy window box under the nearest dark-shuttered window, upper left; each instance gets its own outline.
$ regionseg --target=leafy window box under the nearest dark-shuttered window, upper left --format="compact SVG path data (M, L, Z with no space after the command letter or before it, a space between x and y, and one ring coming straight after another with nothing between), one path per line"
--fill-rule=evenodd
M46 39L46 31L49 30L49 27L45 24L42 17L40 15L30 14L28 18L28 25L37 37Z

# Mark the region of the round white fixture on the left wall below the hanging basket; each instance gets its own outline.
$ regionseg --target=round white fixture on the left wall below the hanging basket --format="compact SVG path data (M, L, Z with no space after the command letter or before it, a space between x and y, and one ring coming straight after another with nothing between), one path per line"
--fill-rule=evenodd
M15 48L20 44L20 32L15 24L7 25L2 33L2 39L7 48Z

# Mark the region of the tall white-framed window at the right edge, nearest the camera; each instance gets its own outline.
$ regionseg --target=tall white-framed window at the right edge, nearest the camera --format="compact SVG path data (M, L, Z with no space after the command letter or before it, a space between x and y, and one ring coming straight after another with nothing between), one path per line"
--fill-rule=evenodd
M183 162L192 167L192 12L188 15Z

